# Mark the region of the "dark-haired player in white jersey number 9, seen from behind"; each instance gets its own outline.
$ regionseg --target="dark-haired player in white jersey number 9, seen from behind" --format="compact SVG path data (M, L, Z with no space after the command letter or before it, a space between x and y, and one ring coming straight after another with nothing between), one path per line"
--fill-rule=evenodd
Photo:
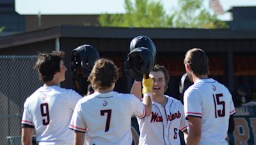
M31 144L33 131L36 142L42 144L72 144L74 134L68 129L74 107L81 95L61 88L65 80L64 52L40 53L35 63L44 86L38 88L24 103L22 144Z

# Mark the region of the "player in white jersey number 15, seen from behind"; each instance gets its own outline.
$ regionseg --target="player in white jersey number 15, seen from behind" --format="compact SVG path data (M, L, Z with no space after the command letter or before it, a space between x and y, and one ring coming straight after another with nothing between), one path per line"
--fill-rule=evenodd
M185 55L184 65L193 85L184 93L184 111L189 122L188 144L228 144L228 120L236 113L228 89L209 78L206 53L193 48Z

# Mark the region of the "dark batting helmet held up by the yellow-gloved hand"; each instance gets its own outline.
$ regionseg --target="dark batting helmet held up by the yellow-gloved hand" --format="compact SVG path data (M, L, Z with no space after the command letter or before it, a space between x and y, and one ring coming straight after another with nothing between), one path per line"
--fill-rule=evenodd
M127 76L142 81L143 74L148 74L154 67L154 55L145 47L132 50L125 59L124 71Z

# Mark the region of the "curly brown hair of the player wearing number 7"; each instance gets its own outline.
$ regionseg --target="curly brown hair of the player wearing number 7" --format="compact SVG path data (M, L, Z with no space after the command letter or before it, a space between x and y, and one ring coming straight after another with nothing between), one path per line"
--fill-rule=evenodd
M112 86L119 77L119 69L109 59L99 59L95 62L92 72L88 77L93 89L105 90Z

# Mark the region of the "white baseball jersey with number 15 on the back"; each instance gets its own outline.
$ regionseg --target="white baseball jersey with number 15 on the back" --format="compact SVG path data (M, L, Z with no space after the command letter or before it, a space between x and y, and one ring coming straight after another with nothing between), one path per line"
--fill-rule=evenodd
M185 116L202 118L200 143L225 142L228 120L236 113L228 89L214 79L198 79L184 93ZM189 128L188 128L189 129Z

